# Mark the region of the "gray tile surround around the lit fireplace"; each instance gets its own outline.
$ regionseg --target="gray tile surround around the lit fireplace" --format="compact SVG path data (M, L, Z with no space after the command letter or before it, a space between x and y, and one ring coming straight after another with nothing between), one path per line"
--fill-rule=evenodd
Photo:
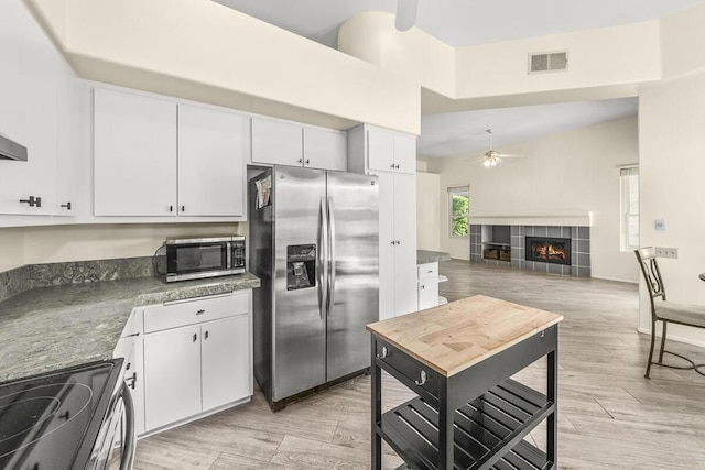
M491 232L492 226L470 225L470 261L495 265L506 265L542 273L590 277L590 228L567 226L510 226L511 261L486 260L482 258L488 241L482 233ZM571 265L542 263L525 260L527 237L556 237L571 239Z

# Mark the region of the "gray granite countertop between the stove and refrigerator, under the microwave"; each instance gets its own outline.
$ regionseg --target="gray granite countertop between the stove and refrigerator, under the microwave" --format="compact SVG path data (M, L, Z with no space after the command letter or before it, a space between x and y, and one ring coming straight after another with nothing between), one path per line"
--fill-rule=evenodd
M108 360L142 305L254 288L251 273L165 283L156 277L37 287L0 302L0 382Z

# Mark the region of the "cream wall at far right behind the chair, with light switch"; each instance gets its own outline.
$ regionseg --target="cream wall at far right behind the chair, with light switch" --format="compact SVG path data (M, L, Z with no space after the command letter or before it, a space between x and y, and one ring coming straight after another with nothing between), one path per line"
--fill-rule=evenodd
M664 80L639 96L640 237L643 247L679 249L676 260L659 260L669 300L705 305L705 73ZM653 229L666 221L665 231ZM642 285L643 291L643 285ZM640 326L650 330L649 300L642 292ZM705 345L705 334L669 327L669 337Z

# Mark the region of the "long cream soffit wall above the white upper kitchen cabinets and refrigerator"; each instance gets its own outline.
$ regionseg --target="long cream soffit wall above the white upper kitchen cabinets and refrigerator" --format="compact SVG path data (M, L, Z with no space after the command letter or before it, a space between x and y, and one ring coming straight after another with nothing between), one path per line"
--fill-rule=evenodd
M84 78L299 121L315 112L420 132L419 85L216 2L25 1Z

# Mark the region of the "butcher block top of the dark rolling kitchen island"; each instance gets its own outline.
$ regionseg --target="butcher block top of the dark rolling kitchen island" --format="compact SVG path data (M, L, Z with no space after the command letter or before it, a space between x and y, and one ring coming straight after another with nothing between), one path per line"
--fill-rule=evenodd
M476 295L367 329L449 378L561 320L550 311Z

